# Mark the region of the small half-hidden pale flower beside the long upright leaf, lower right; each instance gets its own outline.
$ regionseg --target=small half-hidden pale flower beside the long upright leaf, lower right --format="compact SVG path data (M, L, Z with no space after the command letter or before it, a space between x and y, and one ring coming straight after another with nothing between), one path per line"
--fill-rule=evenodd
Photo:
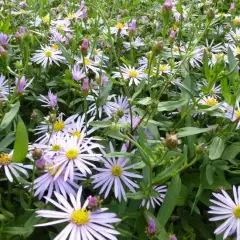
M155 208L155 205L161 206L161 204L165 198L166 192L167 192L166 186L153 187L153 191L151 194L155 193L155 195L154 196L150 195L150 197L148 199L143 199L141 206L142 207L146 206L147 209L149 209L150 206L152 206L153 208ZM158 197L155 197L156 193L159 194Z

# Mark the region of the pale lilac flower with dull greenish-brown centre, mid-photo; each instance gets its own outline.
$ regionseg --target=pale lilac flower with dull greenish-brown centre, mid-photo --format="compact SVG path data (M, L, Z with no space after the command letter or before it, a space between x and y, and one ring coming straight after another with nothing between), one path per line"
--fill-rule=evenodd
M132 107L132 111L134 106ZM104 107L105 113L108 115L106 120L114 117L119 120L119 122L128 122L130 115L130 107L128 103L128 98L123 95L114 97L114 102L108 101Z

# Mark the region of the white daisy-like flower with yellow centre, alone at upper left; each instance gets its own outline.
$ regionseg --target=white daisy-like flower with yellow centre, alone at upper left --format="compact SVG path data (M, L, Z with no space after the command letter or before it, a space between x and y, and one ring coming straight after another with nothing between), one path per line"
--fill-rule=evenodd
M55 63L59 66L59 63L65 60L60 50L56 50L49 46L42 46L41 48L41 50L36 51L31 60L37 64L41 64L44 68L47 67L48 63L50 65Z

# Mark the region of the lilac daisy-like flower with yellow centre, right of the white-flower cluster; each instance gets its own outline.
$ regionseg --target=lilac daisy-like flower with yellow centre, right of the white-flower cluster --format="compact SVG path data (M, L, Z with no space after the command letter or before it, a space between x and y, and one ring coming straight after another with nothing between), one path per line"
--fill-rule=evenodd
M109 146L111 153L115 152L111 142ZM125 145L123 145L121 152L126 152L126 150L127 149ZM107 198L112 186L114 186L115 197L119 201L121 201L122 198L126 201L127 196L123 185L126 185L131 192L135 192L134 188L139 188L139 186L129 178L142 178L141 175L128 171L134 168L136 164L127 166L130 161L129 158L102 158L102 161L105 168L96 168L96 170L100 173L95 174L91 177L94 179L93 188L95 189L101 187L99 194L102 194L105 191L104 198Z

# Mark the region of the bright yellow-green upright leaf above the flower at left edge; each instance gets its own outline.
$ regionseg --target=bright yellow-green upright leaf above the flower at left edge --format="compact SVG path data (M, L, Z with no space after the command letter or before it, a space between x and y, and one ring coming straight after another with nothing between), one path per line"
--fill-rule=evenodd
M23 122L17 125L16 139L14 143L13 162L24 162L28 153L28 133Z

